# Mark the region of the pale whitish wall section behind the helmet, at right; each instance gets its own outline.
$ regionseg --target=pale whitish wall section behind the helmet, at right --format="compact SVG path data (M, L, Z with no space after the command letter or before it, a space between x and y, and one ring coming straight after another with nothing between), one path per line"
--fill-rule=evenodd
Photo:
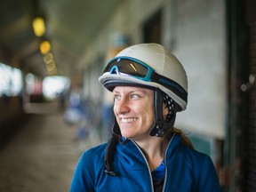
M188 108L177 126L224 137L227 66L225 7L222 0L178 1L174 53L188 75Z

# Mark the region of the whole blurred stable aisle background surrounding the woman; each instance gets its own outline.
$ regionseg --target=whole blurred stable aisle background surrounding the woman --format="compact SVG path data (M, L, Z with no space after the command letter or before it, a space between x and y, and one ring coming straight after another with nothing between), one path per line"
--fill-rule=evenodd
M0 0L0 191L68 191L108 140L98 82L131 44L159 43L188 75L175 127L212 157L222 191L256 191L256 2Z

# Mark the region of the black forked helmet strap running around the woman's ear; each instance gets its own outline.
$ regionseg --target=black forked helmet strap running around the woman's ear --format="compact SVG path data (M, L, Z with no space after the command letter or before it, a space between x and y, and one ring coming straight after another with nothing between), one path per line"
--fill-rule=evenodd
M164 120L163 116L163 103L164 103L164 92L154 91L154 107L155 107L155 124L151 131L150 136L163 137L164 133L172 128L175 118L176 109L169 121Z

